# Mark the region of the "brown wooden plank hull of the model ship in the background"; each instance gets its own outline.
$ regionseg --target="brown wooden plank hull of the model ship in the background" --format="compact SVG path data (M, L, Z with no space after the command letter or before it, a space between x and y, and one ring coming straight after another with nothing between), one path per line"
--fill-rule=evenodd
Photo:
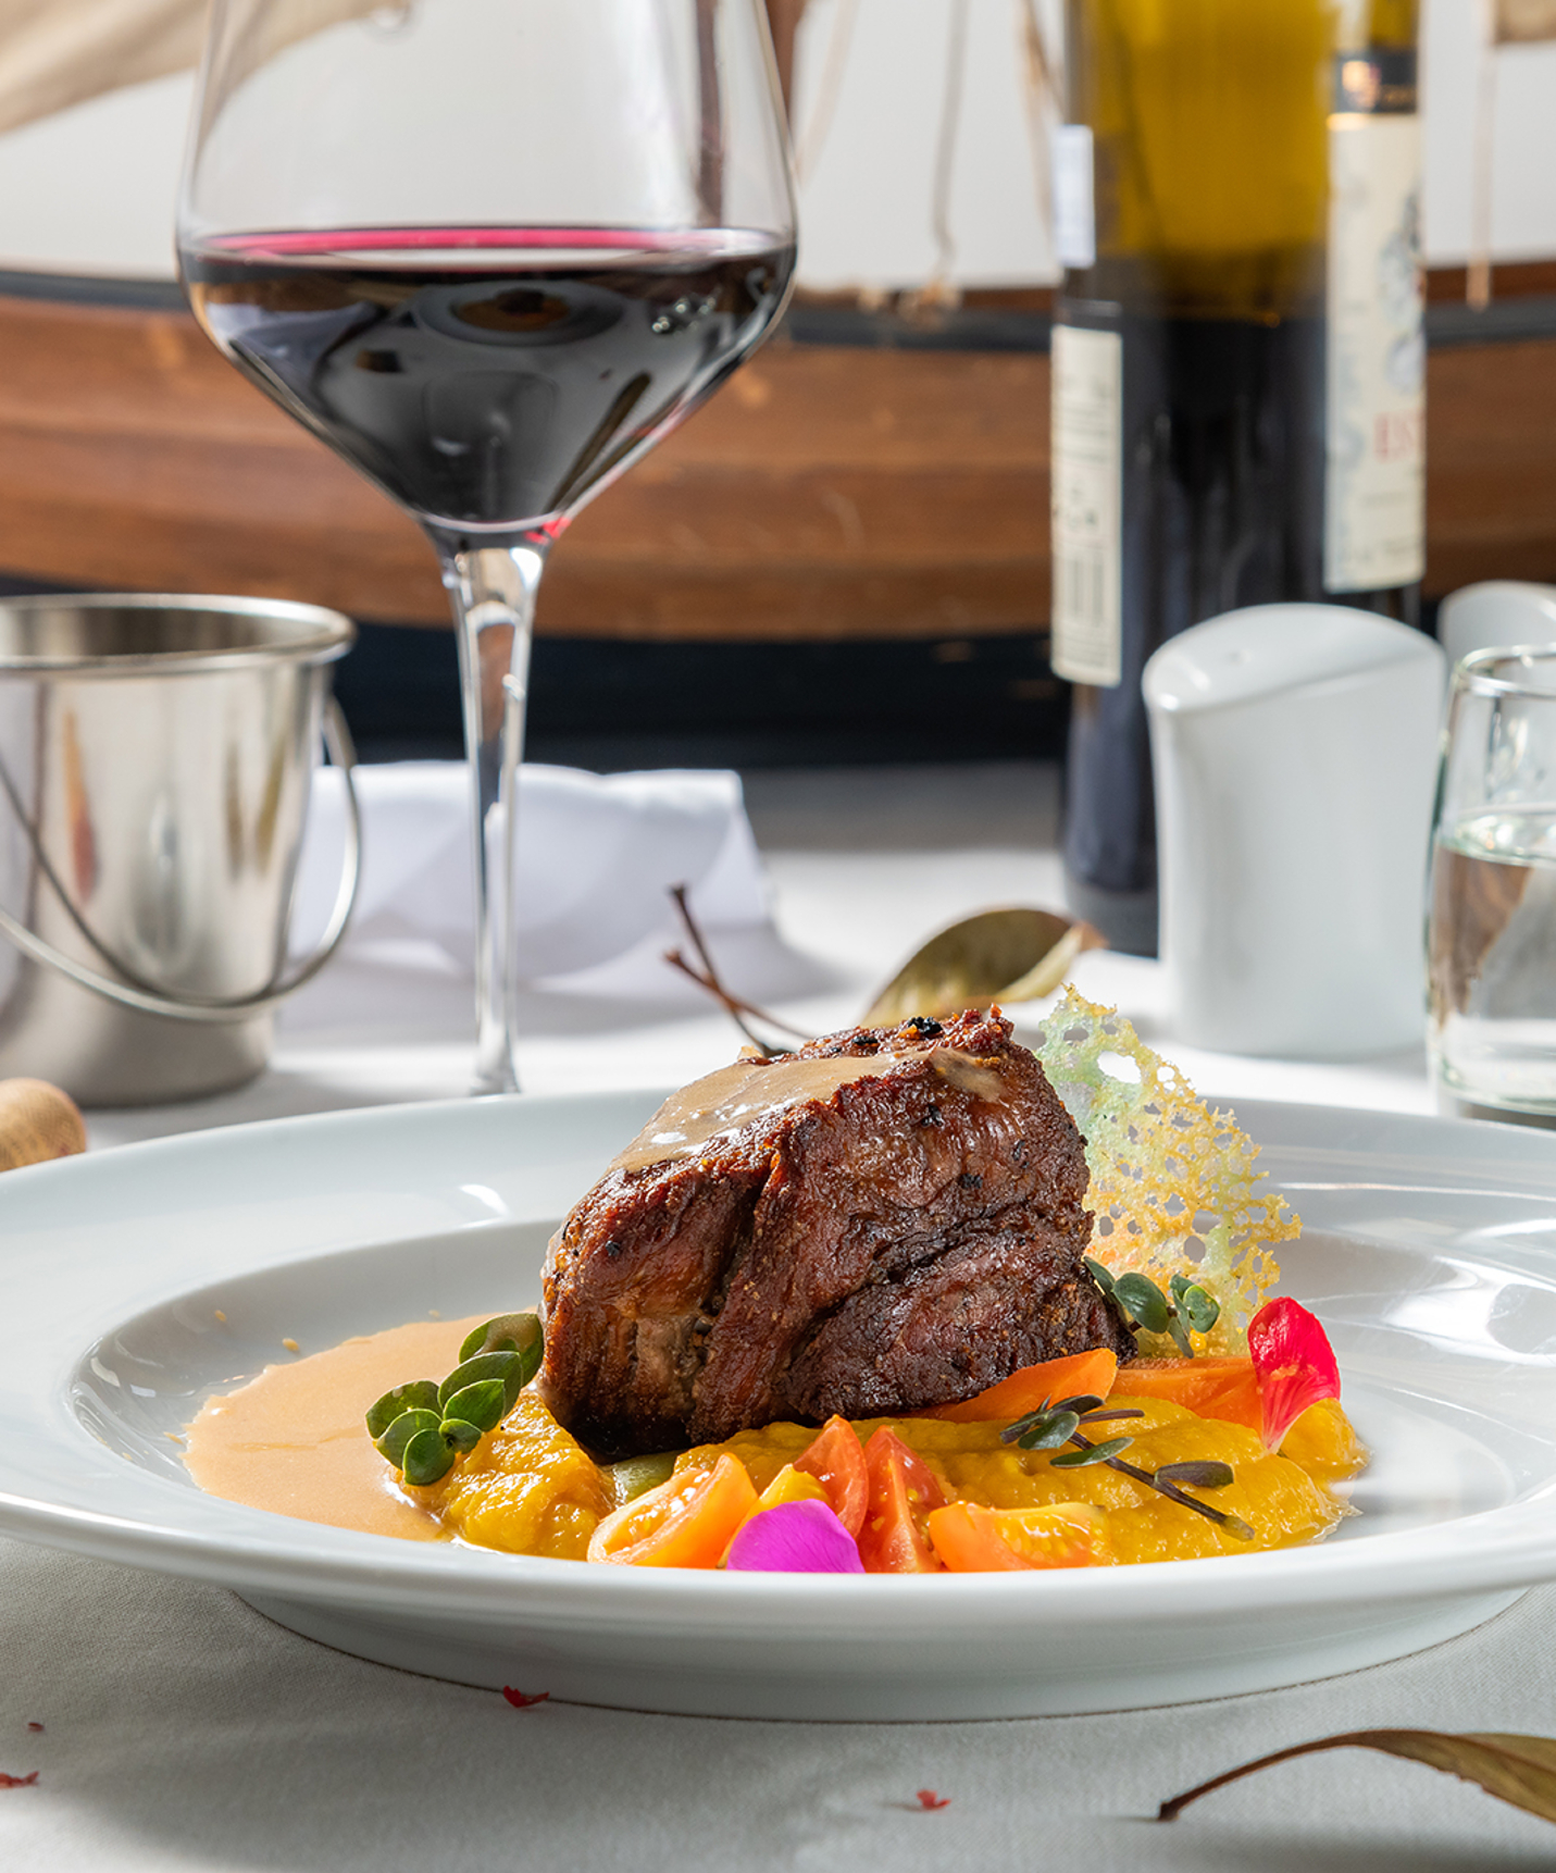
M0 298L0 571L446 622L418 528L183 313ZM1556 581L1556 341L1429 365L1429 573ZM972 637L1049 616L1049 360L770 345L569 530L541 629Z

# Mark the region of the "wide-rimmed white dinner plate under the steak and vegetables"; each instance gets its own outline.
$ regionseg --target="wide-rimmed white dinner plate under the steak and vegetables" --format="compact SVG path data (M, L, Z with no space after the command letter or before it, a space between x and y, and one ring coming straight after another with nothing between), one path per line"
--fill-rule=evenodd
M537 1294L550 1229L653 1094L242 1126L0 1178L0 1530L215 1581L343 1650L640 1710L987 1718L1266 1689L1397 1658L1556 1579L1556 1139L1245 1101L1374 1452L1318 1547L1056 1573L595 1568L202 1495L213 1390ZM225 1322L217 1319L217 1309Z

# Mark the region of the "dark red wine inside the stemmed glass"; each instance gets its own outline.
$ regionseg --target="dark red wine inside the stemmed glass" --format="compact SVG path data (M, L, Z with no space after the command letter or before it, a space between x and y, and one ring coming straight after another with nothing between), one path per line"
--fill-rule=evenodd
M794 247L741 229L223 234L183 253L206 332L404 508L560 530L771 322Z

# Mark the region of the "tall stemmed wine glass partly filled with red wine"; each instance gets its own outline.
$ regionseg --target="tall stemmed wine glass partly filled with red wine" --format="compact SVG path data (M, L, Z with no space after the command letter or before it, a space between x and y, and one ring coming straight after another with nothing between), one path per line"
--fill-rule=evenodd
M195 317L438 553L476 789L477 1092L511 1092L530 626L573 515L794 272L762 0L215 0Z

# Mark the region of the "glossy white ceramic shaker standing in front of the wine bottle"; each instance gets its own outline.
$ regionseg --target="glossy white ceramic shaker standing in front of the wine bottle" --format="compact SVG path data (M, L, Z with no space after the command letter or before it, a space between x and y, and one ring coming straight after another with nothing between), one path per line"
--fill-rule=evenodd
M1344 1058L1419 1041L1446 661L1343 605L1255 605L1146 665L1172 1032Z

